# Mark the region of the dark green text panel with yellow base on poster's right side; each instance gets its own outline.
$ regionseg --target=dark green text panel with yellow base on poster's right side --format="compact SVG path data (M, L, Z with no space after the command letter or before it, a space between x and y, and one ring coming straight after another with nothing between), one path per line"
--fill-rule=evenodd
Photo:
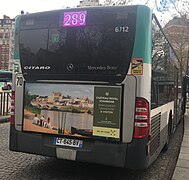
M120 87L95 87L93 135L119 138Z

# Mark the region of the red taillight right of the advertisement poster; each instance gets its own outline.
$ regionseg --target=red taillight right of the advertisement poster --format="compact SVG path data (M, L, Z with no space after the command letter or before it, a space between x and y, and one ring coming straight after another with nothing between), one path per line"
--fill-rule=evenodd
M144 138L149 133L149 103L144 98L136 99L134 138Z

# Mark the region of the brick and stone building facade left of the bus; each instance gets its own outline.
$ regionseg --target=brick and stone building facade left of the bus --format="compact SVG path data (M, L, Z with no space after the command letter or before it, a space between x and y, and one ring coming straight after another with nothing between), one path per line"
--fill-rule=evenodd
M0 19L0 70L12 69L14 23L14 19L5 15Z

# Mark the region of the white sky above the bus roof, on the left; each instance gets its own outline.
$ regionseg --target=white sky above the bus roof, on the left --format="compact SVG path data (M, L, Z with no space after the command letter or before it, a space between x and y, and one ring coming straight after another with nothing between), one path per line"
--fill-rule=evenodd
M80 0L2 0L0 3L0 19L3 15L15 18L23 10L25 13L76 7Z

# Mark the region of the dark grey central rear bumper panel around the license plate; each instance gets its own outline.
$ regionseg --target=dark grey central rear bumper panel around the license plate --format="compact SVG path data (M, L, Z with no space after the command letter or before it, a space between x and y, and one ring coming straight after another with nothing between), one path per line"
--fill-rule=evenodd
M127 144L84 141L82 149L56 146L53 144L53 136L19 132L14 127L11 127L11 136L10 150L12 151L116 167L125 166ZM74 158L70 156L73 152Z

